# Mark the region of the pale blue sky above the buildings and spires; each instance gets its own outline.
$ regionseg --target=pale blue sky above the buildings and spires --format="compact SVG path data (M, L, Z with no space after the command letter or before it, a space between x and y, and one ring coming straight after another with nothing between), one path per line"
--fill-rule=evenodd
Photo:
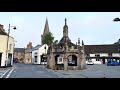
M29 42L33 47L41 44L46 18L55 40L63 36L67 19L68 35L73 43L80 40L85 45L113 44L120 38L120 22L113 22L120 12L0 12L0 24L15 39L15 47L24 48ZM1 42L0 42L1 43Z

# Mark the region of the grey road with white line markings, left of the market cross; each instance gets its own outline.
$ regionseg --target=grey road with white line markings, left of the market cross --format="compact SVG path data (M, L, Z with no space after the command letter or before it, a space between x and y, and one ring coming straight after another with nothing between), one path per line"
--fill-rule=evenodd
M2 78L61 78L41 65L15 63Z

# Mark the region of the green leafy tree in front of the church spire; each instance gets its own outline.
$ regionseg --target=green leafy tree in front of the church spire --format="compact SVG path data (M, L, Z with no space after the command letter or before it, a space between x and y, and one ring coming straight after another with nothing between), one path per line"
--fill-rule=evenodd
M53 43L54 37L53 34L51 32L45 34L45 36L43 37L43 44L47 44L48 46Z

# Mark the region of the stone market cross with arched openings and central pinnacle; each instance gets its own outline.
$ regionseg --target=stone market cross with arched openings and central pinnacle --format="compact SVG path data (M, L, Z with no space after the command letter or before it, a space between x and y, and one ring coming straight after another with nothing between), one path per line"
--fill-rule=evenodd
M62 66L64 70L81 70L86 67L84 54L84 43L80 46L71 42L68 35L67 20L63 27L63 37L58 44L51 44L48 48L47 65L54 69L56 66Z

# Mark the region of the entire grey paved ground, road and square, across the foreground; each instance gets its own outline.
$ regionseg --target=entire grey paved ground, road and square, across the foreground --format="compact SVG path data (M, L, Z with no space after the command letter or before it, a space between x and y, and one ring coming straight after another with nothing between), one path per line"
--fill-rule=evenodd
M15 63L0 68L0 78L120 78L120 66L86 65L85 70L51 70L43 65Z

